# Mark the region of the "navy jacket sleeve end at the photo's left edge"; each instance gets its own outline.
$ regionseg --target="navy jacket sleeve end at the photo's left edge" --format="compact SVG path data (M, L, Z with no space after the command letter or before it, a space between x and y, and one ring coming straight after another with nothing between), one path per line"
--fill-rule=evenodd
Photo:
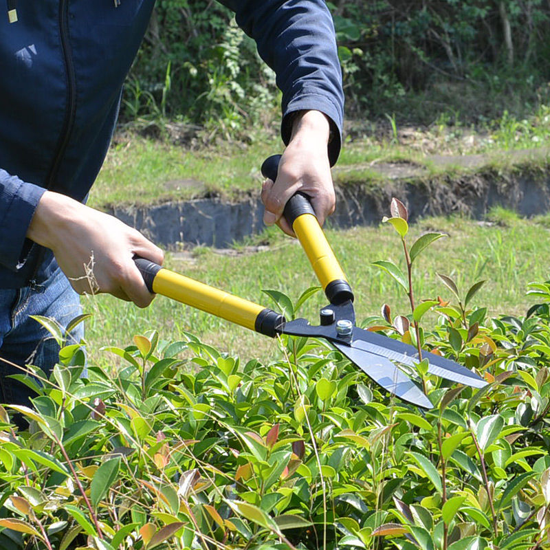
M0 168L0 264L17 271L30 249L26 234L45 189Z

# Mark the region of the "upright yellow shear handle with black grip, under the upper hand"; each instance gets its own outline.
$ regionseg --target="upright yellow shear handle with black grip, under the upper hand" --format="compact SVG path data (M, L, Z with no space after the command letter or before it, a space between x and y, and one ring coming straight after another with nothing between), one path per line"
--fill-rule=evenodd
M265 159L262 164L263 176L275 181L280 160L281 155L273 155ZM309 197L303 192L292 195L287 201L283 216L296 233L329 302L331 304L341 304L347 300L353 302L351 286L319 225Z

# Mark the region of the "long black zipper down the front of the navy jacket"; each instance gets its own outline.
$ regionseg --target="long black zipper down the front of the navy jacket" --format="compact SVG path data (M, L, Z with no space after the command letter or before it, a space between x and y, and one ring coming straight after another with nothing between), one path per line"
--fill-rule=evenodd
M69 144L74 118L76 115L76 76L74 74L73 52L69 43L69 0L60 0L59 2L59 32L61 35L61 49L63 50L63 62L65 63L65 73L67 76L67 104L65 107L65 120L63 129L59 136L56 153L50 168L50 173L46 178L46 189L51 190L59 170L65 151ZM36 255L36 265L30 277L29 286L34 288L40 285L36 284L36 274L38 274L40 265L44 259L45 250L41 248Z

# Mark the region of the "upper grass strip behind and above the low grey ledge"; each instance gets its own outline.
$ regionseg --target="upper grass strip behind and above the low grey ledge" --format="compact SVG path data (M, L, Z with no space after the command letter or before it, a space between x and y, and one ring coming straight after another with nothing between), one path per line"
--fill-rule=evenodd
M272 126L276 126L273 124ZM380 165L413 164L428 177L467 173L480 165L510 168L510 164L547 163L550 144L550 107L541 104L529 118L518 120L507 111L492 121L466 126L459 118L439 118L430 126L401 126L389 118L378 123L351 124L335 179L340 183L386 178ZM520 149L542 151L531 159L509 157ZM216 142L194 150L132 133L119 137L109 151L89 204L106 208L121 203L143 205L187 200L216 194L235 199L258 191L263 159L281 151L274 131L256 131L248 143ZM472 165L462 155L484 155ZM439 157L452 155L452 162Z

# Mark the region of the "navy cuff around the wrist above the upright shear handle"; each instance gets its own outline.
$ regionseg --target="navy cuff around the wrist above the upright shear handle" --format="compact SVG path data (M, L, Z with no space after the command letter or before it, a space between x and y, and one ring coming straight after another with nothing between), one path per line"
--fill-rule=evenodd
M303 94L296 96L286 107L283 107L283 122L281 122L281 137L288 145L292 135L292 123L296 111L320 111L329 119L330 137L328 144L329 162L331 166L336 164L340 149L342 148L342 114L332 102L320 94Z

